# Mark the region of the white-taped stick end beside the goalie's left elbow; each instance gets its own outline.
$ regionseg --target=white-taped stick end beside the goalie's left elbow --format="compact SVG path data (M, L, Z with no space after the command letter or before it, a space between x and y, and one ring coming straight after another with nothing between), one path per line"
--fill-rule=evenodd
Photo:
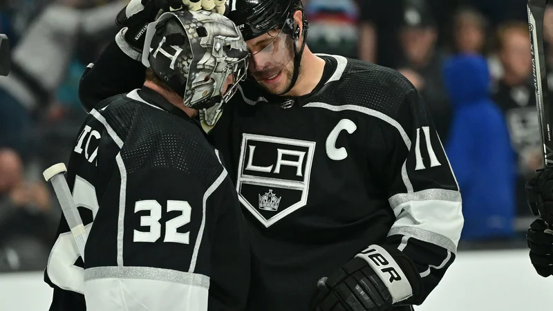
M65 164L58 163L46 169L42 175L47 182L52 182L57 200L59 201L59 205L62 206L64 217L67 220L67 225L71 228L71 233L73 234L73 238L75 238L79 255L84 261L86 229L84 229L81 216L79 215L79 210L77 209L77 205L75 205L73 195L71 195L71 191L69 190L69 186L65 180L64 173L66 171L67 169Z

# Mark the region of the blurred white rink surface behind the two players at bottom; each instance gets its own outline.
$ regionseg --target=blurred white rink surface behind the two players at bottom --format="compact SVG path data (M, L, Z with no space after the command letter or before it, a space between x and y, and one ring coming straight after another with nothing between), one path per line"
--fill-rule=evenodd
M48 310L50 294L41 273L0 274L0 311ZM442 283L415 310L549 311L553 277L538 276L525 249L460 252Z

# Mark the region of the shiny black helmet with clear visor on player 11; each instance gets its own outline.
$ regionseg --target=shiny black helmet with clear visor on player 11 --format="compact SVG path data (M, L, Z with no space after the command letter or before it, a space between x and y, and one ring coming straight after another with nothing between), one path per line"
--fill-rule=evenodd
M285 90L279 90L278 95L288 93L295 86L299 77L301 56L306 46L309 28L305 14L303 14L302 21L303 32L300 32L300 27L293 17L297 10L303 11L301 0L229 0L228 5L229 13L227 16L236 23L246 41L261 37L264 34L269 34L270 37L274 38L272 44L263 51L250 50L252 53L252 57L250 57L252 75L250 77L261 82L264 79L278 75L290 62L294 62L294 72L290 85L285 87ZM299 44L300 37L303 37L301 45ZM290 47L293 50L291 55L288 55L287 51L291 50ZM278 53L271 53L271 50L278 51ZM255 59L270 68L267 70L265 68L255 68Z

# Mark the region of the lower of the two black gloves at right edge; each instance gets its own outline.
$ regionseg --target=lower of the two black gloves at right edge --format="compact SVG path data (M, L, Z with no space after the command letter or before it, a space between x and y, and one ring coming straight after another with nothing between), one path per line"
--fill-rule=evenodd
M530 225L527 242L536 272L543 277L553 275L553 232L543 219L538 218Z

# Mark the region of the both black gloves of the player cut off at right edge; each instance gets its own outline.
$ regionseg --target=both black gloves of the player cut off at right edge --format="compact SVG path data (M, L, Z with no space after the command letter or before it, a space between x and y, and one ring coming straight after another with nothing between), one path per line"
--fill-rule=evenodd
M526 184L532 214L540 216L527 234L530 260L539 275L553 275L553 167L539 169Z

